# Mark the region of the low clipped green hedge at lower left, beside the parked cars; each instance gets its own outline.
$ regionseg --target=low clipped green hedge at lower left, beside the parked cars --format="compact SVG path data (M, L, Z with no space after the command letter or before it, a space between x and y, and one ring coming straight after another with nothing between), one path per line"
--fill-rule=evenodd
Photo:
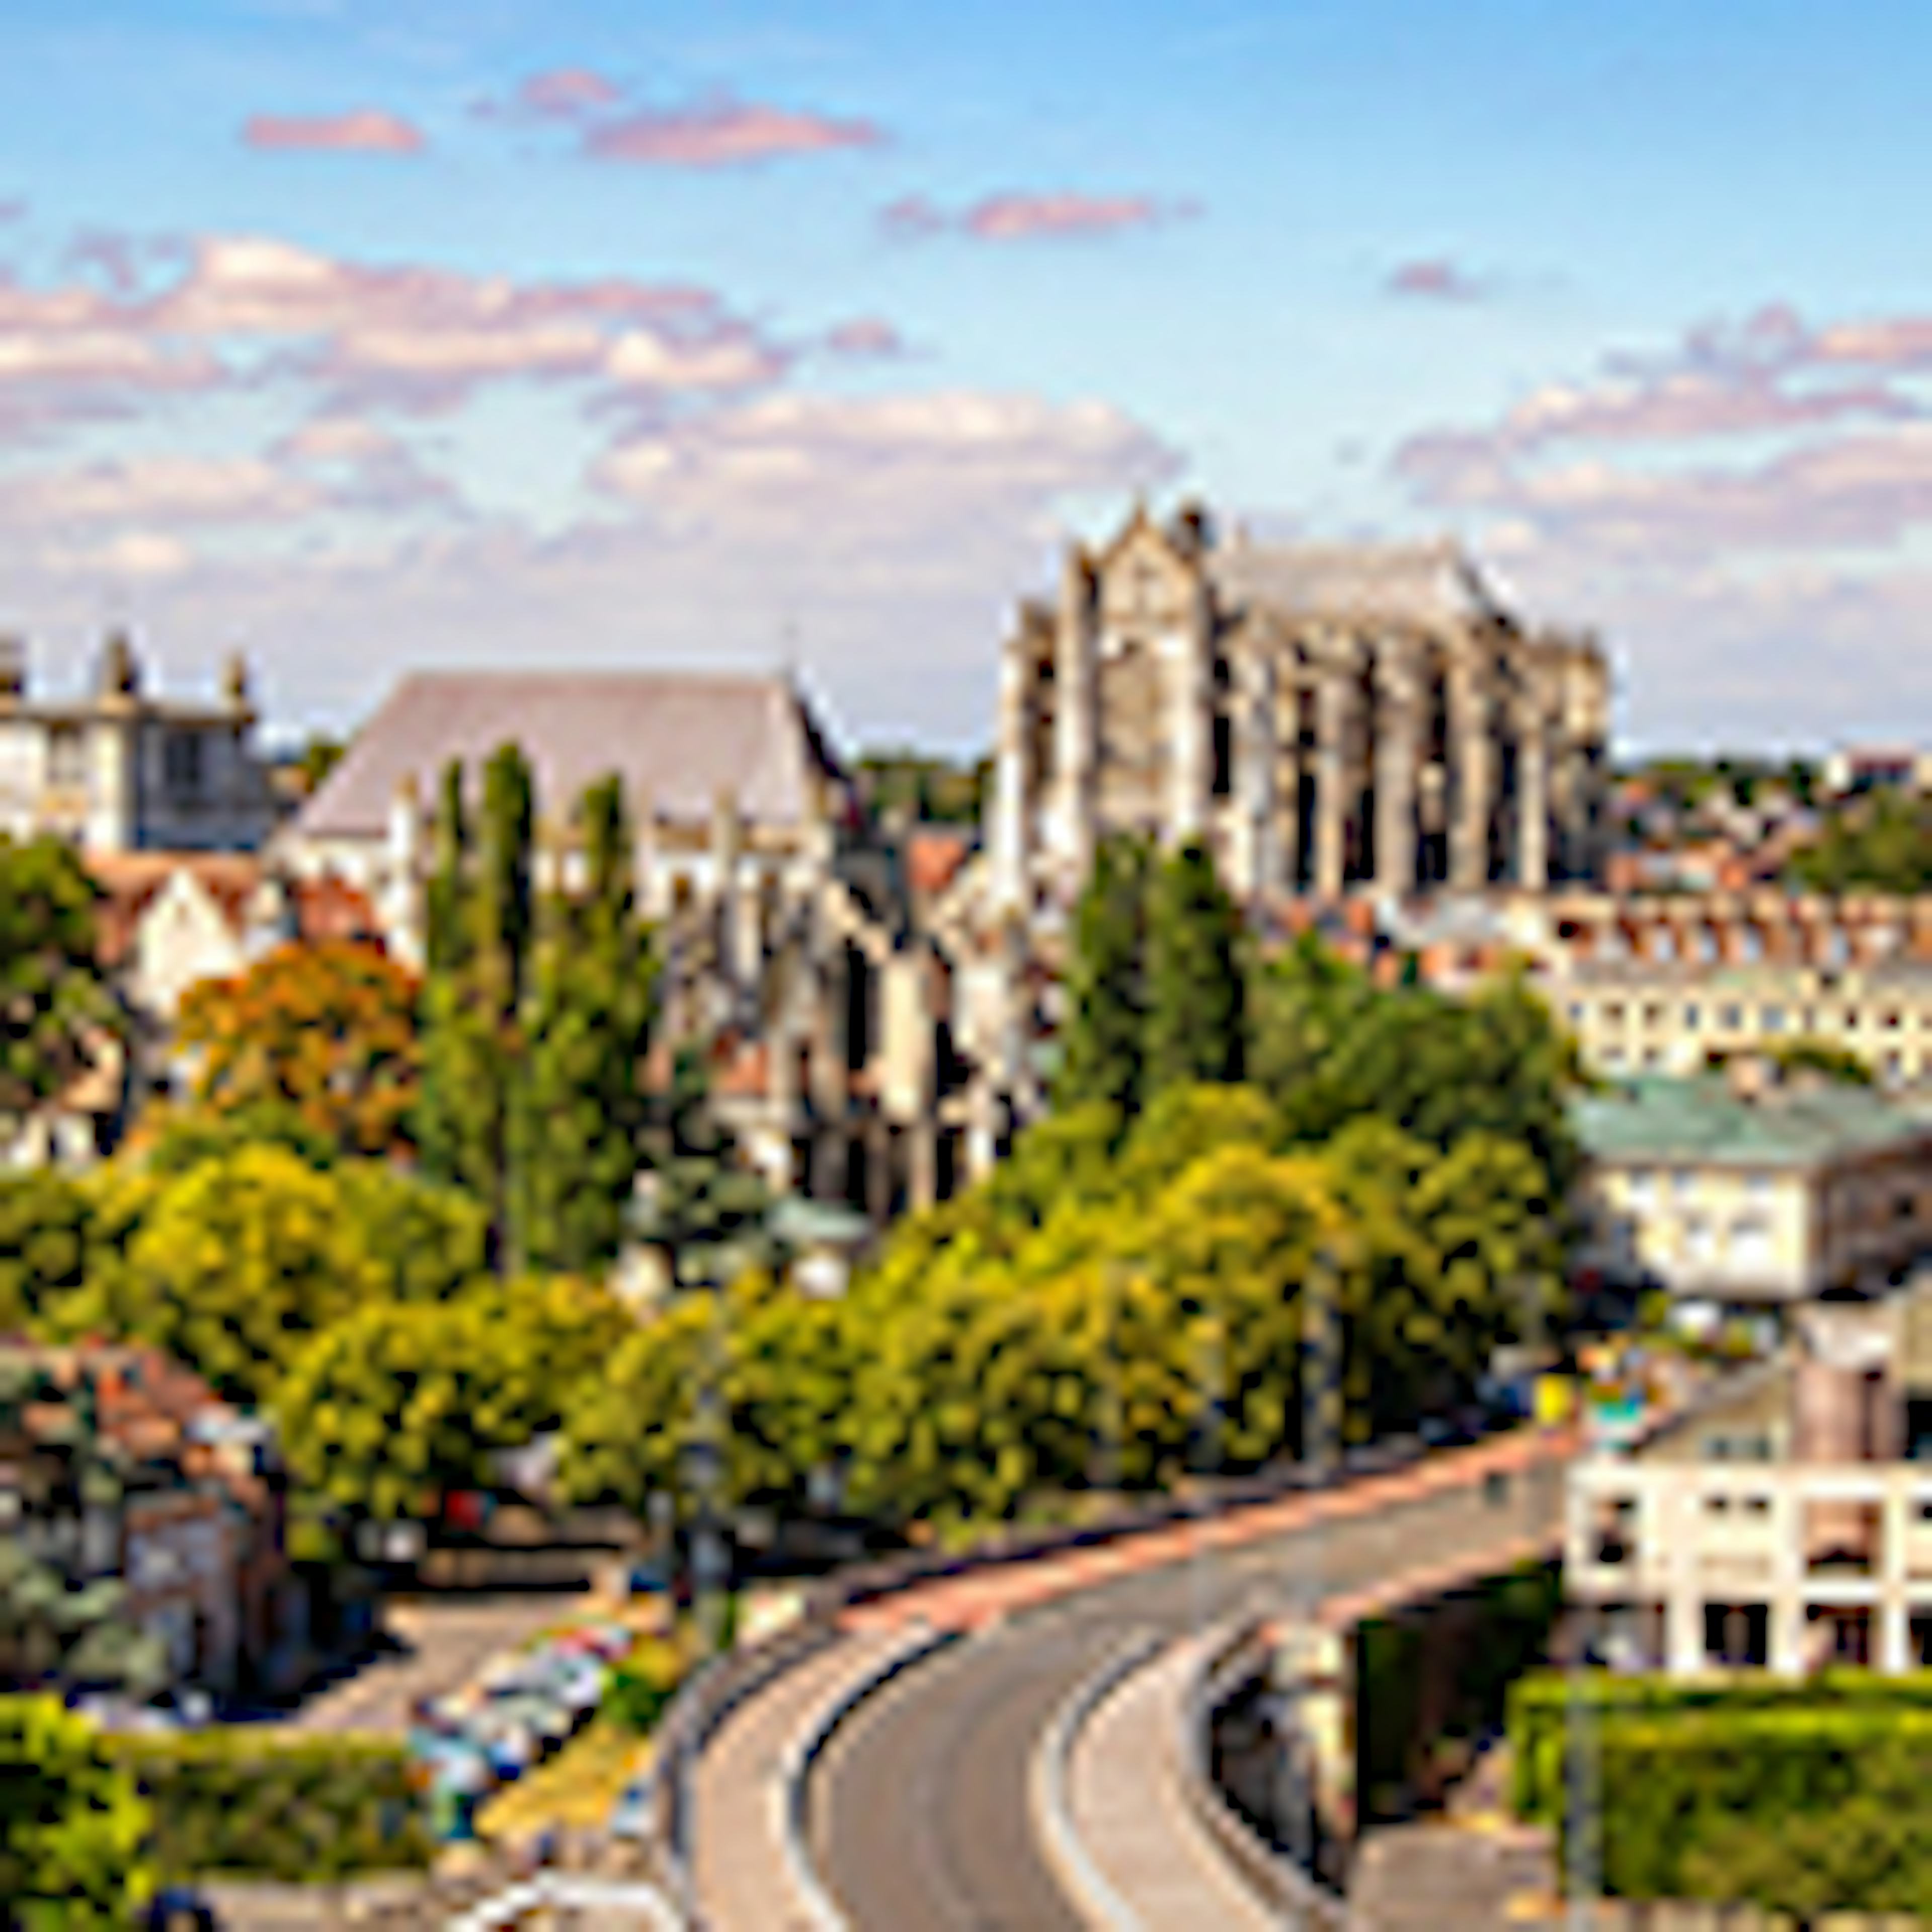
M180 1731L112 1737L108 1752L153 1808L164 1880L336 1880L425 1866L435 1851L408 1752L388 1739Z

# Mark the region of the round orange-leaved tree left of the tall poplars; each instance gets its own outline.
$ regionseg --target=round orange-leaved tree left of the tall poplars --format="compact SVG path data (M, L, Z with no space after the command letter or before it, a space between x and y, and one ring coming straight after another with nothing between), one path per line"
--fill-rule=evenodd
M216 1113L292 1107L346 1153L406 1138L421 1078L415 978L379 947L294 943L205 980L182 1001L178 1039Z

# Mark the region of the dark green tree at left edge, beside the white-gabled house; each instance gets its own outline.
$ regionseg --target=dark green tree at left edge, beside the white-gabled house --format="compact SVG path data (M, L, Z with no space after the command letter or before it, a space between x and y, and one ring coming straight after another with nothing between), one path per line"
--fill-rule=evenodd
M0 1121L60 1094L120 1037L122 1012L95 956L95 900L73 848L0 833Z

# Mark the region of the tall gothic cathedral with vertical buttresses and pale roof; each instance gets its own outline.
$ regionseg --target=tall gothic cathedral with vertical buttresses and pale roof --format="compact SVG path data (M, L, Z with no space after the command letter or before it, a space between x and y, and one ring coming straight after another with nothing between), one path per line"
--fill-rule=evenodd
M1003 910L1068 902L1097 838L1206 838L1244 900L1592 879L1609 686L1455 549L1221 543L1136 510L1068 553L1001 659Z

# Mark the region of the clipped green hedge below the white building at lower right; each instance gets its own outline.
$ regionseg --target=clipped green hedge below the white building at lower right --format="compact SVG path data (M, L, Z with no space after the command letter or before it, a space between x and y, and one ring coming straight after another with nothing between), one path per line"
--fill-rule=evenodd
M1592 1675L1604 1886L1781 1911L1932 1907L1932 1675ZM1563 1830L1571 1687L1511 1696L1515 1797Z

